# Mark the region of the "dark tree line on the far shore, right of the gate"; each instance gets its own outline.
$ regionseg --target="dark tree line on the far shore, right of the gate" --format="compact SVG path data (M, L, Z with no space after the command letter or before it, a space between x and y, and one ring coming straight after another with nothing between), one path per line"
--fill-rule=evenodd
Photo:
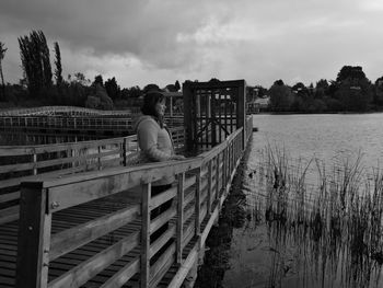
M276 113L383 111L383 77L372 83L360 66L344 66L336 80L321 79L315 85L311 83L306 87L298 82L290 87L277 80L268 90L254 87L252 93L268 95L268 111Z

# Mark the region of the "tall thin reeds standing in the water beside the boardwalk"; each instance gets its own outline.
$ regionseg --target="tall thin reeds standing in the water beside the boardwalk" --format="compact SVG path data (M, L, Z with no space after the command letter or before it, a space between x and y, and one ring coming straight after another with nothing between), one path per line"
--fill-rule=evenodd
M268 287L280 287L291 269L281 257L291 245L303 262L303 287L382 287L382 171L367 170L360 152L329 168L271 146L263 158L264 216L278 251Z

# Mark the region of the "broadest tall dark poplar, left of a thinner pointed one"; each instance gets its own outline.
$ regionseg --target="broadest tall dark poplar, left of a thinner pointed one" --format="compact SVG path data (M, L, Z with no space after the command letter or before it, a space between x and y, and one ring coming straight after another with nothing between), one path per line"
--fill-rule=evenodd
M51 87L51 67L46 37L42 31L19 37L23 72L31 95L37 96L44 88Z

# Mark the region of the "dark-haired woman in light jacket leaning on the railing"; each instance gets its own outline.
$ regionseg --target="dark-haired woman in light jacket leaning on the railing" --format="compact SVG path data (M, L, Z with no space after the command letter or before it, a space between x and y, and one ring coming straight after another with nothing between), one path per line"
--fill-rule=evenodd
M172 136L164 125L165 97L159 91L148 92L143 96L141 107L142 116L137 120L137 139L141 150L140 163L159 162L167 160L183 160L184 155L175 154ZM169 189L175 181L173 176L166 176L152 183L152 197ZM162 204L151 211L151 219L154 219L172 206L172 200ZM167 230L169 224L164 224L151 235L151 242L155 241ZM160 253L159 253L160 254Z

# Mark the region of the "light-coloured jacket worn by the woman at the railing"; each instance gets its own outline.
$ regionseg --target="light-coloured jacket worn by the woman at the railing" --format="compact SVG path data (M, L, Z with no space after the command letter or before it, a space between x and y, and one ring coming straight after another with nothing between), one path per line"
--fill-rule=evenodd
M166 128L148 115L140 116L136 123L137 140L140 147L140 162L160 162L171 160L174 154L172 136ZM153 186L171 184L174 176L164 177L152 183Z

